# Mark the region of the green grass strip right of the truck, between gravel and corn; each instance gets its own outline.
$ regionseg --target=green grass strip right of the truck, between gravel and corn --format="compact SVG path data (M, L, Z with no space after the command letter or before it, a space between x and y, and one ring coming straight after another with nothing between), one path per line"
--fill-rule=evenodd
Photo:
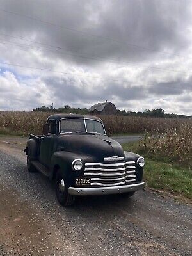
M145 157L144 179L147 188L163 190L172 195L192 199L192 170L179 163L172 163L168 157L157 157L143 152L137 143L123 145L125 151L135 152Z

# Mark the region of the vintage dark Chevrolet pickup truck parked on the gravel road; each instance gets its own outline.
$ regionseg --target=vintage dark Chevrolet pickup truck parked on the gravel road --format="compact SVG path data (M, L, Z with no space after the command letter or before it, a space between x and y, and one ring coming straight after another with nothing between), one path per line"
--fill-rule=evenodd
M95 116L49 116L42 136L29 134L24 150L29 172L39 170L54 181L61 205L76 196L127 193L143 189L143 157L124 152L108 138Z

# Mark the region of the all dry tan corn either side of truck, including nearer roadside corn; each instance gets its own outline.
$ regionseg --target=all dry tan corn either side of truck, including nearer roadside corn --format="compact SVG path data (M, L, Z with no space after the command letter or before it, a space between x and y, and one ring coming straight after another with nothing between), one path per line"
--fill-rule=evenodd
M0 112L0 134L42 134L48 112ZM100 116L108 133L145 133L144 152L192 165L192 120Z

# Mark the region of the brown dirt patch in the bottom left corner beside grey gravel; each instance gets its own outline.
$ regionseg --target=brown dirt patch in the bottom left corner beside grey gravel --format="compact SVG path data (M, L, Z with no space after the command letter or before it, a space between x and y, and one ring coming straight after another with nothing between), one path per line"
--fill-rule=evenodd
M55 255L63 244L42 214L0 184L0 244L6 255Z

